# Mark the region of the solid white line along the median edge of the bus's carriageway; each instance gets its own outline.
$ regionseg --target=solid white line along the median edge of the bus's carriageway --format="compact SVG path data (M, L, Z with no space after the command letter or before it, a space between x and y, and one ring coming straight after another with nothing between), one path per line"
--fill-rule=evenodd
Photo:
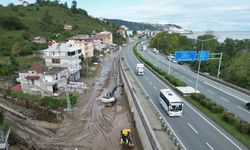
M163 86L166 87L166 84L163 83L163 81L161 81L158 77L156 77L156 75L154 75L152 72L150 72L151 75L153 75L156 80L158 80ZM168 87L168 86L167 86ZM198 111L196 111L193 106L191 106L190 104L188 104L186 101L183 100L183 102L190 107L196 114L198 114L203 120L205 120L210 126L212 126L216 131L218 131L222 136L224 136L228 141L230 141L235 147L237 147L239 150L242 150L236 143L234 143L229 137L227 137L224 133L222 133L218 128L216 128L212 123L210 123L205 117L203 117ZM183 145L183 144L182 144Z

